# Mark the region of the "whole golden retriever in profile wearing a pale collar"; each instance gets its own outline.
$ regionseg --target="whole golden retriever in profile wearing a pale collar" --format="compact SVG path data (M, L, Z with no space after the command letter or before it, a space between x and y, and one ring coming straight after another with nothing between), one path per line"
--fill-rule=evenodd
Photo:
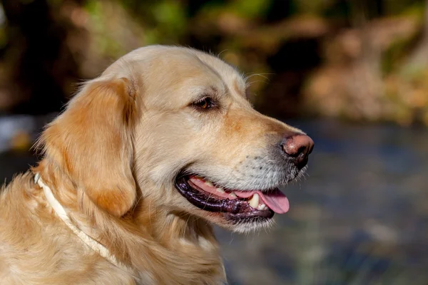
M314 142L245 78L177 46L131 51L46 126L0 195L0 284L223 284L213 224L269 227ZM275 102L272 102L274 104Z

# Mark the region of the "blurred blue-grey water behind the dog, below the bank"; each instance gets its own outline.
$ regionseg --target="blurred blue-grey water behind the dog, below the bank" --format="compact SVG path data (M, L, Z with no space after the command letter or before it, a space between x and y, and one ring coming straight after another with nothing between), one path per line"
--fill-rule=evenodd
M217 229L230 284L428 284L428 129L287 123L315 140L308 175L268 232ZM3 152L0 177L34 162Z

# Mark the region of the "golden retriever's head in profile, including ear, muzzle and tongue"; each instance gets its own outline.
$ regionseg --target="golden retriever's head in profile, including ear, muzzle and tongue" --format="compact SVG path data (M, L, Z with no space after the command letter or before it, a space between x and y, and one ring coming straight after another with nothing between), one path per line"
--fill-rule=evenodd
M277 187L305 171L313 142L256 112L246 86L215 56L140 48L82 88L45 131L45 149L116 217L150 200L236 231L263 227L287 212Z

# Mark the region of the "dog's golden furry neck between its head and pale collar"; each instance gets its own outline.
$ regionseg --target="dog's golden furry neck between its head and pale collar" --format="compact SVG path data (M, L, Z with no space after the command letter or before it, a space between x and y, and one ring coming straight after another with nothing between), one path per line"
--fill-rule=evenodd
M103 244L121 264L138 274L148 274L156 284L170 280L176 284L192 284L194 280L218 284L224 279L218 244L205 221L168 212L146 199L140 199L123 217L112 217L75 189L66 175L53 170L48 161L42 161L34 172L40 173L79 228Z

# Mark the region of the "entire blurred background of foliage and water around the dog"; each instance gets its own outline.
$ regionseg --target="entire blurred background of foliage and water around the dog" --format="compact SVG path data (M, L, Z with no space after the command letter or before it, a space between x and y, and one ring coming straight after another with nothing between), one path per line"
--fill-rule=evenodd
M428 284L427 0L0 3L6 182L78 83L140 46L192 46L315 140L273 229L217 230L230 284Z

